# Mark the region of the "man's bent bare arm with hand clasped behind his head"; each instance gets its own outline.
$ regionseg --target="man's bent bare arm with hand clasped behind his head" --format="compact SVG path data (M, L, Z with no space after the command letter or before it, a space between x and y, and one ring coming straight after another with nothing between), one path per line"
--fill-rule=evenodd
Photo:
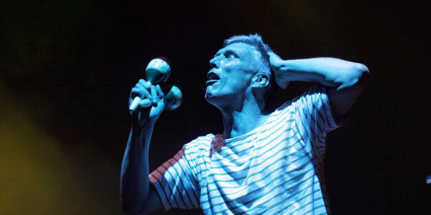
M336 121L349 112L364 90L369 77L366 66L346 60L336 58L282 60L275 53L268 55L275 73L275 81L281 88L285 89L290 81L314 81L329 86L327 96Z

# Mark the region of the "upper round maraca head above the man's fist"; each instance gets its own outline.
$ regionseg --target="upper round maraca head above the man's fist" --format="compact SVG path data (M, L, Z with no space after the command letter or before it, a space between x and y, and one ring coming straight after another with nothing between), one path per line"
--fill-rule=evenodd
M154 58L145 68L145 76L151 84L165 82L171 75L171 66L169 60L164 57Z

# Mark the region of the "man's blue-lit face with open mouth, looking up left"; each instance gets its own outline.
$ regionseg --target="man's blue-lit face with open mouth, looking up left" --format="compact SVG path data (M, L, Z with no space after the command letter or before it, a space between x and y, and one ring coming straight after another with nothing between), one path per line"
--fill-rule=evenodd
M205 99L216 106L244 99L255 73L256 53L254 47L242 42L233 43L215 53L209 61L211 70Z

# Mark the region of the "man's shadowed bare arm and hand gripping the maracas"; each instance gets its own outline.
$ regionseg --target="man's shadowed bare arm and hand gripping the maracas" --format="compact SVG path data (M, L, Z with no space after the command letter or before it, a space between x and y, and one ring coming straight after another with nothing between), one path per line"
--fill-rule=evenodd
M132 88L129 105L135 97L143 100L131 113L133 124L121 165L121 210L126 214L148 214L161 207L159 197L150 189L148 151L154 123L165 103L160 86L150 86L143 79ZM153 104L151 108L142 108L148 102Z

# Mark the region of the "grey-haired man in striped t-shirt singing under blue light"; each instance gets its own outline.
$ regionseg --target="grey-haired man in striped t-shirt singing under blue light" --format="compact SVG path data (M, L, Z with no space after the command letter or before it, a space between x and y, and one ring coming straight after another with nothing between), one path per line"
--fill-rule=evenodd
M185 144L150 177L150 139L164 108L158 99L163 92L143 79L132 88L130 101L139 96L153 105L132 113L121 169L123 211L330 213L322 166L325 137L342 125L364 89L366 66L335 58L281 60L257 34L225 40L210 64L205 99L222 112L224 133ZM268 104L276 88L285 89L290 81L317 84L272 110Z

